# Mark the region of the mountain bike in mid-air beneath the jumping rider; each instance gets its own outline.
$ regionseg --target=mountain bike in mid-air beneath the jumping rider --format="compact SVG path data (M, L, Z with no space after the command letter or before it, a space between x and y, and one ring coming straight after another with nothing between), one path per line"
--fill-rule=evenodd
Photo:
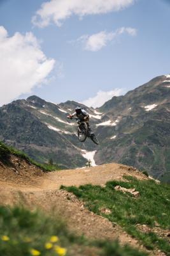
M90 134L89 127L86 122L80 122L79 118L72 117L70 119L76 120L77 125L77 136L78 140L81 142L84 142L87 137L90 138L95 144L99 145L99 141L97 140L96 136L94 134Z

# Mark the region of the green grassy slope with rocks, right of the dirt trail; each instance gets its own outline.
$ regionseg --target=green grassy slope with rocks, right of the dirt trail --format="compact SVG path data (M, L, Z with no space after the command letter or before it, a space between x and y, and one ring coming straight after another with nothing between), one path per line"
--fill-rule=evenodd
M170 246L166 239L153 232L143 233L137 228L137 224L155 227L155 221L160 228L170 227L170 186L156 184L153 180L137 180L133 177L125 177L127 182L111 181L101 186L85 185L76 187L62 187L73 192L85 202L90 211L101 214L112 222L118 223L132 237L136 237L149 250L159 248L162 252L169 253ZM114 187L120 185L124 188L135 188L139 191L139 198L134 198L129 193L115 191ZM111 214L101 213L100 209L110 209ZM162 214L163 213L163 214Z

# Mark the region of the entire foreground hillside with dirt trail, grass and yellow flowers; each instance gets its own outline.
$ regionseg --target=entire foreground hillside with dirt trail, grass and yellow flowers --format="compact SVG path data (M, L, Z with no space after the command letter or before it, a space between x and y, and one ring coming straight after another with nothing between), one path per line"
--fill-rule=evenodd
M170 253L169 185L135 168L112 163L42 172L0 143L0 184L0 255Z

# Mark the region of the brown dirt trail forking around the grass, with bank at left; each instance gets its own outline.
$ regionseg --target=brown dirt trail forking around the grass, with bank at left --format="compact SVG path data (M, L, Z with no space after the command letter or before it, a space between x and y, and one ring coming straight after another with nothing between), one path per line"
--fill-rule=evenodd
M108 180L122 180L123 175L147 179L138 170L122 164L103 164L92 168L62 170L44 173L22 161L13 167L0 163L0 205L22 204L30 209L39 207L50 214L60 214L68 227L77 234L97 239L118 239L120 243L143 248L139 242L126 234L118 225L85 209L76 196L59 190L60 185L104 185Z

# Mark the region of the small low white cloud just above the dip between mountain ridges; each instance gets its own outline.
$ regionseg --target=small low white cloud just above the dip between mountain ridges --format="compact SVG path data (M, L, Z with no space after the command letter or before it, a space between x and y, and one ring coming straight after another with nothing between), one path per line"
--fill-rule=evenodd
M122 89L115 89L109 92L99 91L95 97L84 100L82 103L88 107L98 108L101 107L106 101L110 100L113 96L120 96L122 92Z

